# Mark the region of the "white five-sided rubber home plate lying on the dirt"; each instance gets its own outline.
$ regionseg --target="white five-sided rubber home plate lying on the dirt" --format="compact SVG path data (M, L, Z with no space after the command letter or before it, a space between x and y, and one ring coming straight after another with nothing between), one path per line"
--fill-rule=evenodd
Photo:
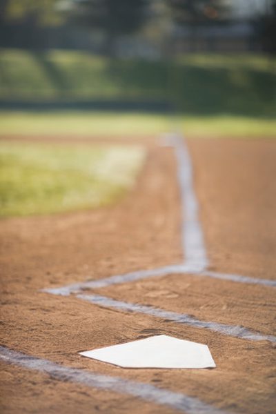
M123 368L215 368L216 366L207 345L167 335L152 336L79 354Z

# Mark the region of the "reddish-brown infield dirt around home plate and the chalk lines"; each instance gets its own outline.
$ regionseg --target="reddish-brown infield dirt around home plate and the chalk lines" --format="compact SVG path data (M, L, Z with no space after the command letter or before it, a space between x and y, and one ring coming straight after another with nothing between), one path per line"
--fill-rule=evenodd
M270 342L250 342L39 292L181 261L175 157L172 149L155 146L154 139L143 144L148 146L146 165L135 188L117 206L1 221L1 344L66 366L179 391L226 411L273 413L275 349ZM273 279L276 141L195 139L188 147L210 268ZM275 288L168 275L97 293L275 335ZM77 354L160 333L208 344L217 368L124 369ZM175 412L17 366L2 363L1 370L3 413Z

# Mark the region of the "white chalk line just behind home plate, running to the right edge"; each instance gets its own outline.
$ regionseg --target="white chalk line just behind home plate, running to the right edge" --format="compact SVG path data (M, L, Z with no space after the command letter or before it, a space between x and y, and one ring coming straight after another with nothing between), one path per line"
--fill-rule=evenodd
M244 328L244 326L204 321L186 313L176 313L172 311L166 311L161 308L155 308L153 306L121 302L119 300L111 299L110 297L101 295L77 295L77 297L79 299L86 300L91 304L103 306L104 308L115 308L119 311L129 313L143 313L144 315L167 319L171 322L176 322L177 324L193 326L194 328L204 328L208 329L208 331L221 333L223 335L228 335L239 339L247 339L249 341L269 341L273 343L276 342L275 336L262 335L260 333L256 333L255 331L251 331L248 328Z

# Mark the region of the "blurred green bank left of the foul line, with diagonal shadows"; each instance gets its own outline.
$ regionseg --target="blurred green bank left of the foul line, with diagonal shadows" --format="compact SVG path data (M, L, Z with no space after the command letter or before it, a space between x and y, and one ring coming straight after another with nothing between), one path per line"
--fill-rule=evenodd
M164 98L166 85L164 89L155 79L157 67L140 61L112 62L86 52L2 50L0 97L25 101ZM161 64L162 81L164 76ZM145 77L149 79L144 85Z

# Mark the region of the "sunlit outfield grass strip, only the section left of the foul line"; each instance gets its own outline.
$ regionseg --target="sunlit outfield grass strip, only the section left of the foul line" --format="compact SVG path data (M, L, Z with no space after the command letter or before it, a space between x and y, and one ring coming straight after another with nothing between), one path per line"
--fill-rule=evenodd
M150 135L164 132L166 115L108 112L0 112L0 134Z

